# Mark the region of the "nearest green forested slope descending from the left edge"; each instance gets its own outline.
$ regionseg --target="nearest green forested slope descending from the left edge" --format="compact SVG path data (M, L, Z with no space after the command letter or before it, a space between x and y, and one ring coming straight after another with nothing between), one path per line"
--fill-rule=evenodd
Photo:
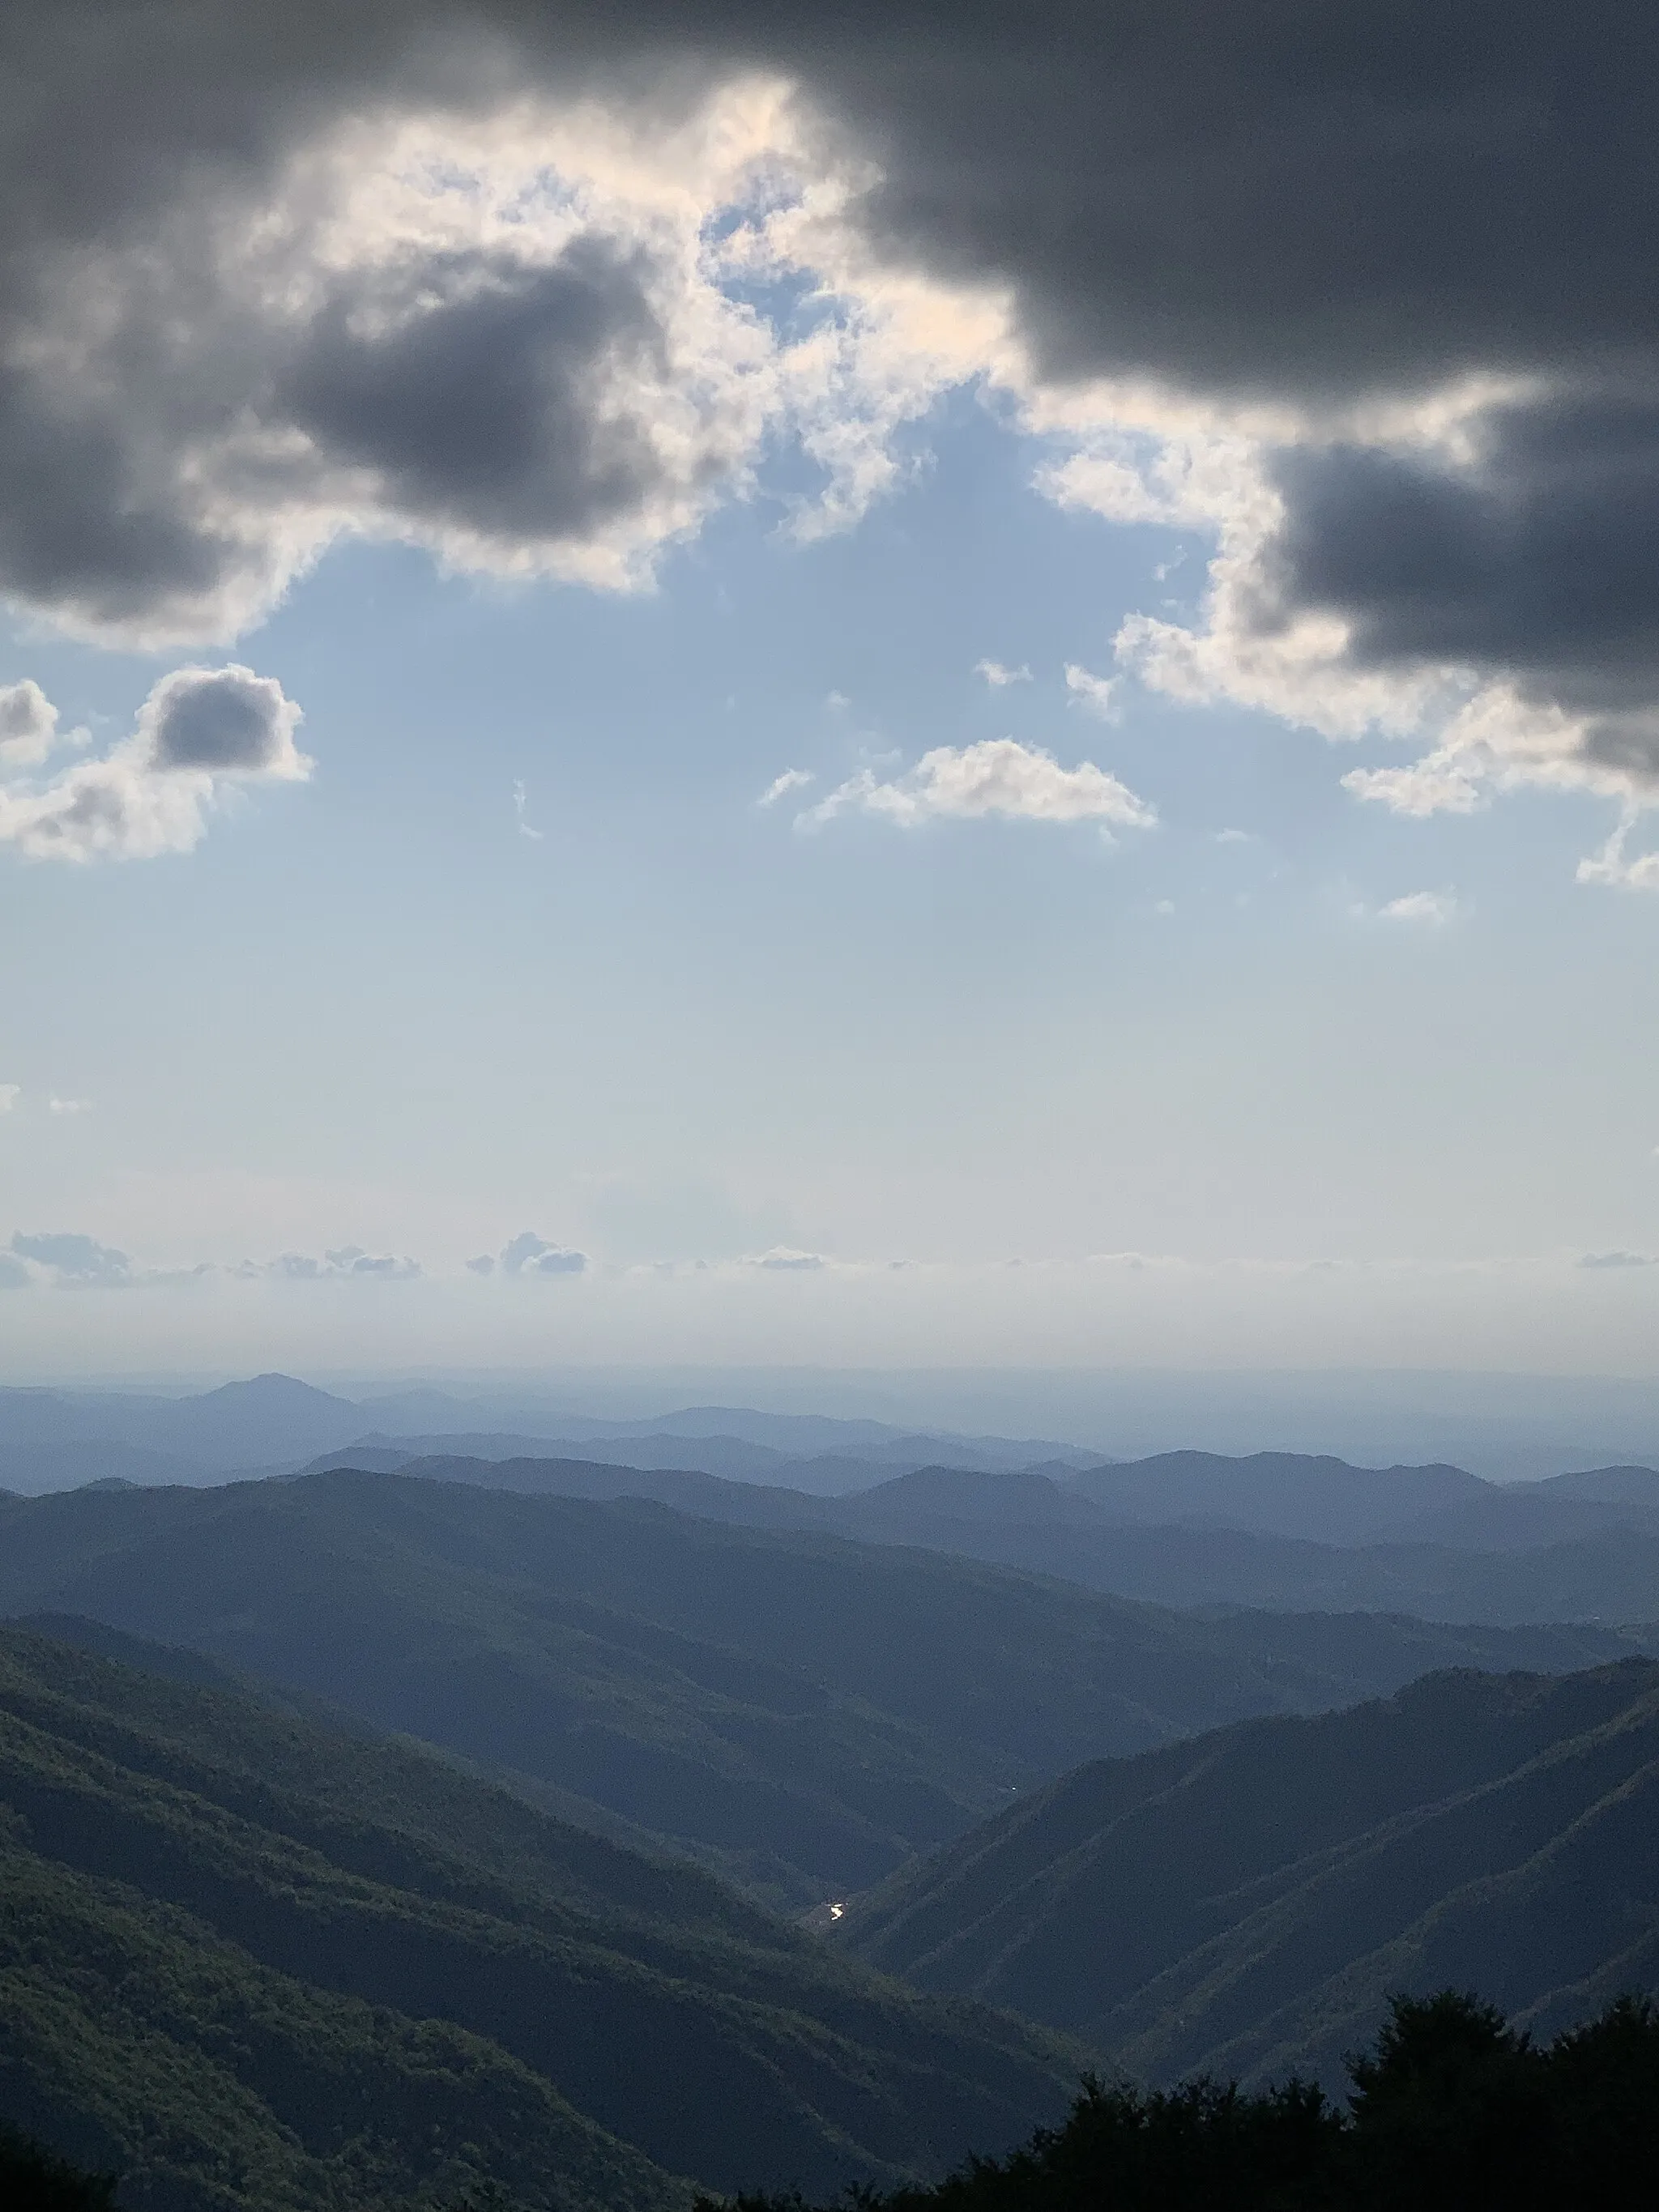
M1077 2055L407 1743L0 1632L0 2119L157 2212L940 2172ZM677 2179L684 2177L684 2179Z

